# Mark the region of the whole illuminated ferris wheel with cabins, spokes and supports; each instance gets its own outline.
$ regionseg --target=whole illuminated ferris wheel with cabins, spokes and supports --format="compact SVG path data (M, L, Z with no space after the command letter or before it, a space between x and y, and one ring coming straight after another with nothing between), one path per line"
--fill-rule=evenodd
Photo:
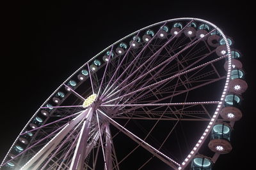
M247 89L233 44L199 18L132 32L54 90L1 169L212 169Z

